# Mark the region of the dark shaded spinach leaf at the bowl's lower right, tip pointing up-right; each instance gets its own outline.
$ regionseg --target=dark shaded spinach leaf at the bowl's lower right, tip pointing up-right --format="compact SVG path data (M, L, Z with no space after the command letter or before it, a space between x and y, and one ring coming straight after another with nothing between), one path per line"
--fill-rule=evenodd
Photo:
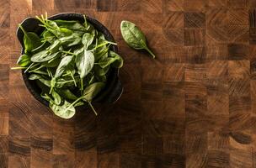
M89 85L83 91L83 100L85 102L91 102L93 98L96 97L104 87L105 87L104 82L95 82Z

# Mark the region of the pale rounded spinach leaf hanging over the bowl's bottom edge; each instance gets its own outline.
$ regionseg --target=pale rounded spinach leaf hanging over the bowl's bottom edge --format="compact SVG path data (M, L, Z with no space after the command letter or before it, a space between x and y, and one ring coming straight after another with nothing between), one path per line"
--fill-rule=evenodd
M74 108L74 106L66 100L62 105L56 105L54 102L51 101L50 108L57 116L66 119L72 118L76 113L76 109Z

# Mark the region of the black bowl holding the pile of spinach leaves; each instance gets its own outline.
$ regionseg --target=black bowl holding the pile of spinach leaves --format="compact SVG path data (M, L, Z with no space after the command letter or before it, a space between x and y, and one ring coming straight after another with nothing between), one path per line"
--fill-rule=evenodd
M51 20L62 19L62 20L77 20L81 23L84 22L83 14L80 13L60 13L54 16L51 16ZM112 34L109 33L109 30L104 27L103 24L100 24L94 18L90 18L87 16L87 20L90 24L93 24L94 28L102 32L105 38L109 41L115 42ZM44 31L43 27L39 26L40 22L36 18L26 18L22 22L22 27L28 32L34 32L35 34L41 34ZM24 33L21 29L17 29L17 37L19 39L20 44L22 45L21 54L24 54ZM115 45L111 45L113 51L117 53L117 47ZM28 73L24 73L22 71L22 76L24 79L24 83L26 87L29 89L29 92L35 97L36 100L45 104L45 106L49 106L49 102L45 101L44 98L40 97L41 89L37 86L35 81L29 80ZM112 103L119 99L120 95L123 92L123 87L119 79L119 69L111 68L107 77L106 87L102 92L99 92L99 95L93 99L93 102L96 103Z

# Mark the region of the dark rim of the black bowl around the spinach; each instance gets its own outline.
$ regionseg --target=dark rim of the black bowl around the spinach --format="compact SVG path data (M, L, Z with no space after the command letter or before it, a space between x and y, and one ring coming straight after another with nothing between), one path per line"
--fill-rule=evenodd
M54 15L49 16L48 19L56 20L56 19L62 19L63 17L67 17L67 18L68 17L75 17L75 18L77 18L77 20L79 20L79 19L81 20L81 19L83 19L83 14L82 13L56 13ZM24 20L21 22L21 25L23 25L27 20L29 20L31 18L33 19L33 17L24 18ZM99 28L98 29L95 28L95 29L102 32L105 35L106 39L115 42L115 39L114 39L113 35L110 33L109 29L107 29L104 26L104 24L101 24L96 18L93 18L91 16L86 15L86 18L87 18L87 20L90 24L93 24L93 26L96 25L96 27L100 28L100 29ZM36 18L34 18L34 19L36 19ZM18 29L16 30L16 36L18 37L18 39L19 39L19 34L20 33L21 33L20 28L18 27ZM19 41L19 42L20 42L20 45L21 45L21 54L24 54L24 43L21 42L21 41ZM111 45L111 46L112 46L112 50L114 50L116 53L118 53L117 46L116 45ZM119 78L120 69L119 68L113 68L112 71L114 73L113 77L114 77L115 81L114 80L111 81L111 83L109 84L110 86L111 85L113 86L115 82L120 82L120 78ZM42 104L44 104L45 106L48 107L49 102L47 102L44 98L40 97L40 93L35 91L35 89L32 87L31 81L29 81L29 79L28 79L28 76L27 76L28 74L25 74L24 70L22 70L21 73L22 73L22 76L23 76L25 86L28 88L28 90L32 94L32 96L35 97L35 99L37 101L41 102ZM118 95L118 97L115 98L114 102L116 102L120 98L120 96L123 92L123 87L121 86L121 88L119 90L120 90L119 93L118 93L119 95ZM104 103L104 98L107 97L110 92L111 92L111 90L106 89L106 92L103 91L102 94L99 94L99 96L97 96L93 99L93 103L94 102L95 103L99 103L99 102ZM81 107L82 108L88 107L88 105L85 103L85 105L83 105ZM77 107L77 108L81 108L81 107Z

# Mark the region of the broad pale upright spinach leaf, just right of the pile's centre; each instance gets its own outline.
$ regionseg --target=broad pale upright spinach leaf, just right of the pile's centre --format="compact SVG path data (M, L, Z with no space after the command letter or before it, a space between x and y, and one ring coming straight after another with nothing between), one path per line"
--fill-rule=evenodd
M76 66L80 78L87 76L88 73L93 69L94 55L88 50L84 50L76 57Z

